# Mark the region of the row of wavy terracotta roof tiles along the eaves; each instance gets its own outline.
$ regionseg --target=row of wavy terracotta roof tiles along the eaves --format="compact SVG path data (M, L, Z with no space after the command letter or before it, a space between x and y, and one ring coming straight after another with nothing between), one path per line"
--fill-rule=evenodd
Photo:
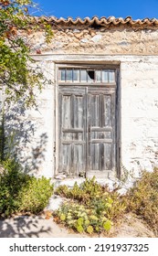
M96 24L98 26L102 27L109 27L110 25L114 26L119 26L119 25L130 25L130 26L158 26L158 19L156 18L143 18L143 19L136 19L133 20L131 16L127 16L125 18L119 17L116 18L114 16L110 17L98 17L98 16L93 16L92 18L90 17L85 17L85 18L80 18L77 17L73 19L72 17L63 18L63 17L55 17L55 16L34 16L32 17L32 21L40 22L40 19L43 19L47 21L48 23L52 23L55 25L93 25Z

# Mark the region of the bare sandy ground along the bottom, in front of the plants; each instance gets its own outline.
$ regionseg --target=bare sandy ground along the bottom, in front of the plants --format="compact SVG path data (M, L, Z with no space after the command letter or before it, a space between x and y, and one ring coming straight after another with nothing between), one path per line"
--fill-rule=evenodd
M78 234L58 225L54 219L41 216L16 216L0 220L0 238L84 238L87 234ZM103 234L92 237L104 237ZM132 213L123 218L123 222L111 229L109 237L114 238L154 238L153 231L146 223Z

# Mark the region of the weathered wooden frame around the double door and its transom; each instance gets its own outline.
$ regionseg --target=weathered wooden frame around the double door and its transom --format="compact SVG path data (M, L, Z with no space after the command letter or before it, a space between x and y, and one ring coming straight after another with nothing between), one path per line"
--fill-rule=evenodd
M84 63L75 61L65 63L55 63L55 87L54 87L54 116L55 116L55 142L54 142L54 157L55 157L55 176L58 176L58 155L59 155L59 140L58 140L58 116L59 116L59 104L58 104L58 69L59 68L104 68L104 69L116 69L116 99L115 99L115 172L109 178L117 177L121 178L121 82L120 82L120 65L109 63ZM73 85L72 85L73 86ZM75 86L75 85L74 85ZM94 85L95 86L95 85ZM113 173L113 172L112 172Z

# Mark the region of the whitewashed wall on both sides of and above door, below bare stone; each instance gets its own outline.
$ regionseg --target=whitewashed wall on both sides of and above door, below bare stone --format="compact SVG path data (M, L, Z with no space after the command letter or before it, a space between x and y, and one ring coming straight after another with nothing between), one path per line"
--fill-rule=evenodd
M55 160L58 157L56 146L56 120L58 86L55 79L55 62L76 61L90 62L90 59L101 63L120 63L121 87L121 164L135 176L143 169L151 171L158 166L158 57L141 56L37 56L42 59L42 65L47 76L52 80L38 94L37 110L25 112L23 121L30 121L34 131L28 127L29 140L21 146L19 155L23 155L30 168L32 157L37 162L37 174L52 177L55 171ZM93 60L94 61L94 60ZM57 87L57 89L56 89ZM15 123L15 120L12 121ZM57 155L56 155L57 154ZM55 158L56 157L56 158ZM24 161L26 165L26 161Z

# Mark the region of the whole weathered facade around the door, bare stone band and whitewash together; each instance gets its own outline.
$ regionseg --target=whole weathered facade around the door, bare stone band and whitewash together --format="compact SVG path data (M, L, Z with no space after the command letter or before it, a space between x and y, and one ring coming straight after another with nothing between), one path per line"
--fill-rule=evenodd
M54 175L58 158L55 63L79 62L120 65L121 164L135 176L142 169L158 166L158 30L59 27L54 35L48 47L42 33L32 38L33 57L52 84L38 95L37 110L25 111L23 117L16 114L16 130L21 137L25 134L25 139L18 136L18 154L24 165L38 175Z

